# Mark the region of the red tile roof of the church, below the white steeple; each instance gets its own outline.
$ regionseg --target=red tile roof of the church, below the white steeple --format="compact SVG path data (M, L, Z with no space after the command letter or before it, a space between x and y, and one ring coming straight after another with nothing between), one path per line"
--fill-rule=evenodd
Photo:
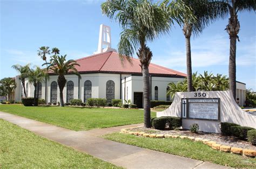
M77 66L77 70L80 73L89 72L109 72L109 73L129 73L129 74L141 74L142 68L140 67L139 59L132 58L132 64L127 60L121 62L119 54L117 52L105 52L89 57L76 60L80 66ZM163 66L150 64L150 74L159 74L166 76L187 76L184 73L174 71Z

